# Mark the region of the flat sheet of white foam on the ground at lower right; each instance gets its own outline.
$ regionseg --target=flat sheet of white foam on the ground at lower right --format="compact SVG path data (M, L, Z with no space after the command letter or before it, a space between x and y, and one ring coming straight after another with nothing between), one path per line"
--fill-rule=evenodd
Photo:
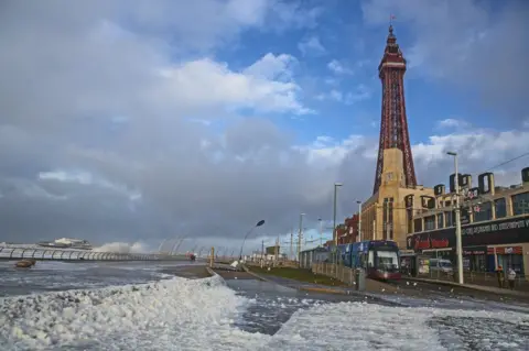
M462 319L463 325L457 326L455 320L450 321L451 326L466 333L474 344L481 345L481 350L522 350L529 342L527 334L523 338L495 330L496 322L529 328L529 316L525 314L341 303L295 312L267 347L270 350L446 350L440 340L440 331L428 326L434 318L446 317ZM483 326L476 327L472 322L482 319L495 320L485 323L489 328L488 339L481 336L484 333ZM450 339L455 347L452 350L465 349L458 345L465 342L462 337L450 328L443 330L445 343Z

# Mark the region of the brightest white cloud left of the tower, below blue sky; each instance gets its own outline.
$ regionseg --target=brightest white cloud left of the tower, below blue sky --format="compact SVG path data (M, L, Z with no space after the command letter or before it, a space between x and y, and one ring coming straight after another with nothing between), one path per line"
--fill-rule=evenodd
M289 55L267 54L242 73L207 58L188 62L162 70L163 81L152 98L160 103L174 101L177 108L188 109L224 106L307 113L310 110L298 100L300 87L292 80L284 81L291 75L288 63L292 59Z

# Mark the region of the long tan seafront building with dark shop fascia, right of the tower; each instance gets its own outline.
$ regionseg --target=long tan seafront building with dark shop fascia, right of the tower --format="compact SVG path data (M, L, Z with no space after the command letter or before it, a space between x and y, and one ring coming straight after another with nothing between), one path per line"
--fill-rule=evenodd
M496 186L493 173L460 174L463 266L473 272L494 272L501 265L518 274L529 272L529 167L521 169L521 183ZM455 261L455 187L434 187L434 201L409 212L407 249L432 252Z

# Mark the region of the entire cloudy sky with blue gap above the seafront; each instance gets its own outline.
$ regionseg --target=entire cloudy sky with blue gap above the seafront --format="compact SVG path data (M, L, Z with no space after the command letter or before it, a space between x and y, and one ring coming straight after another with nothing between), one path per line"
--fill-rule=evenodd
M0 241L315 238L370 196L390 13L419 183L529 151L523 0L2 1Z

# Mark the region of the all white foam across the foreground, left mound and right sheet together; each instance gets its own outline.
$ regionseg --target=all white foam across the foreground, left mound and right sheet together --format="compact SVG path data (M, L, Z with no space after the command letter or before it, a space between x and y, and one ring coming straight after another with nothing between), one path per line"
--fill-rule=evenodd
M301 309L274 336L267 336L234 326L250 304L255 300L237 296L218 276L0 298L0 344L2 350L71 345L83 350L433 351L446 350L440 332L428 326L435 317L490 318L520 328L529 325L527 315L509 311L341 303ZM519 333L496 336L495 323L487 323L489 340L479 340L484 350L497 349L498 342L522 349L528 342ZM483 327L468 322L457 328L475 332L476 338L483 333ZM444 338L461 341L451 330Z

